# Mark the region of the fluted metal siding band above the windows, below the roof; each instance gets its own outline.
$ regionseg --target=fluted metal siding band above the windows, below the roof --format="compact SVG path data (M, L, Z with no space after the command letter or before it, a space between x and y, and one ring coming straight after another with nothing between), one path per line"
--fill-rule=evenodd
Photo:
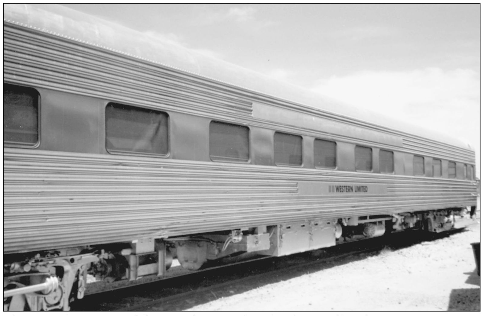
M192 74L160 65L149 65L96 47L24 30L9 23L4 24L3 74L7 82L143 104L162 111L178 111L231 121L240 118L244 123L254 126L266 124L265 127L270 128L288 126L270 121L261 122L251 117L251 97L259 100L269 96L255 95L249 91L236 93L235 90L227 90L224 86ZM299 112L307 111L315 117L335 121L343 131L355 126L353 128L365 128L376 135L387 133L393 139L403 139L402 148L414 154L474 164L474 152L469 148L432 141L346 117L324 115L315 109L305 110L297 104L285 105L287 109L291 109L291 106L293 111L297 110L295 118L298 118ZM298 126L298 120L295 120L291 128L303 132L302 127ZM328 133L325 126L322 126L321 132ZM363 141L340 134L330 136L349 142ZM397 146L386 148L401 150Z

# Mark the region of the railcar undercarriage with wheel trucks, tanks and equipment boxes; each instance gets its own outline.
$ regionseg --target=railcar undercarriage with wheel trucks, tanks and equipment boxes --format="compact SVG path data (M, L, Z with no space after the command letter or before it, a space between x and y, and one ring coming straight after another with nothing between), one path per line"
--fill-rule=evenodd
M164 277L174 259L184 269L197 270L238 254L283 256L406 229L439 233L452 229L454 216L461 211L452 208L310 220L9 255L4 257L4 311L68 311L72 301L84 297L88 273L105 282L133 281L146 275Z

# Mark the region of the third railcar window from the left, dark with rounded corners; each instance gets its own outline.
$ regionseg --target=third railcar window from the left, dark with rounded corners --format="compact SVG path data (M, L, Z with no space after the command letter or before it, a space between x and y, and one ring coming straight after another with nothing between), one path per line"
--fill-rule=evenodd
M210 122L209 153L212 160L248 161L249 128L221 122Z

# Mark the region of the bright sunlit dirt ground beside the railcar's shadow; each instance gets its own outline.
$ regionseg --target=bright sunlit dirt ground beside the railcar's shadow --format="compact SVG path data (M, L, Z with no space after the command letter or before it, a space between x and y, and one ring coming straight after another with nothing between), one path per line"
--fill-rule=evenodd
M479 311L480 277L470 246L478 241L475 219L450 237L227 293L189 311Z

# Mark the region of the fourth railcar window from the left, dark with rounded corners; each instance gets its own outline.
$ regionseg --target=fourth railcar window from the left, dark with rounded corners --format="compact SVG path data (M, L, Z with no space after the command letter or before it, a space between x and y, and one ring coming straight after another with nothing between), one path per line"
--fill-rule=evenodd
M297 135L275 133L275 164L301 166L302 137Z

